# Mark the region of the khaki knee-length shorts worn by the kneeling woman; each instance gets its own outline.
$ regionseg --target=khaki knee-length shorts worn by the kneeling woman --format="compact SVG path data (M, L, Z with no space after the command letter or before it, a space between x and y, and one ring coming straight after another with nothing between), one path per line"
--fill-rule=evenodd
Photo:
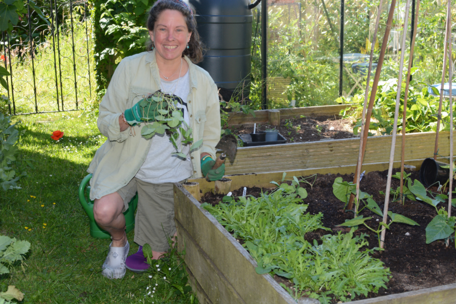
M181 181L181 183L185 180ZM169 249L167 238L176 233L174 223L173 183L154 184L133 179L117 193L124 200L124 211L138 192L138 207L135 218L136 244L149 244L152 250L162 252Z

